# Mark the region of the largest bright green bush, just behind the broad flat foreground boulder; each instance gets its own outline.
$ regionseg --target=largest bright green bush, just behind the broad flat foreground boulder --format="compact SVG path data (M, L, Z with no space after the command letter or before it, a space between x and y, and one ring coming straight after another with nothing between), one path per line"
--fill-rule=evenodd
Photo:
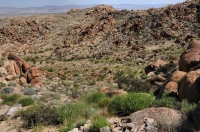
M129 115L151 106L154 97L145 93L129 93L116 96L109 105L109 110L118 115Z

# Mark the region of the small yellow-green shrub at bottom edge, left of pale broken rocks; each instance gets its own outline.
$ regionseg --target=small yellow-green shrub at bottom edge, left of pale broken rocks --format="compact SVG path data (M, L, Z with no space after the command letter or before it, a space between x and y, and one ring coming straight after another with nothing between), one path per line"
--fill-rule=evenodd
M90 127L90 130L92 132L100 132L100 128L105 126L110 127L110 124L103 116L97 115L92 119L92 126Z

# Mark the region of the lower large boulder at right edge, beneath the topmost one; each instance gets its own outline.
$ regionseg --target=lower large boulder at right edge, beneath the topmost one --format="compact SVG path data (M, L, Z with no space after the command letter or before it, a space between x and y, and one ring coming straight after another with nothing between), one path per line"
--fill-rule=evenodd
M187 99L190 102L200 101L200 69L196 71L190 71L185 75L181 81L180 88L178 90L178 96L180 99Z

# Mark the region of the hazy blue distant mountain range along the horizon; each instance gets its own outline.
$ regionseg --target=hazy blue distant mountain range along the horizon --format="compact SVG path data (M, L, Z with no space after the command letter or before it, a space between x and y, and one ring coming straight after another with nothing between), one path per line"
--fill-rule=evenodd
M14 8L14 7L0 7L0 17L8 17L15 15L28 15L28 14L47 14L47 13L64 13L69 11L72 8L91 8L96 5L65 5L65 6L42 6L42 7L30 7L30 8ZM160 8L166 6L163 5L132 5L132 4L120 4L112 5L118 10L127 9L127 10L141 10L148 9L151 7Z

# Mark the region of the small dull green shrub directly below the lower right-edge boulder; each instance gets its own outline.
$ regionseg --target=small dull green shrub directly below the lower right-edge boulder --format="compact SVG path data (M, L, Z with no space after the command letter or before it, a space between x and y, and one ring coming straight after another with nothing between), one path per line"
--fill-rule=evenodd
M197 104L190 103L188 100L184 99L181 102L181 111L186 115L189 115L196 108L196 106Z

